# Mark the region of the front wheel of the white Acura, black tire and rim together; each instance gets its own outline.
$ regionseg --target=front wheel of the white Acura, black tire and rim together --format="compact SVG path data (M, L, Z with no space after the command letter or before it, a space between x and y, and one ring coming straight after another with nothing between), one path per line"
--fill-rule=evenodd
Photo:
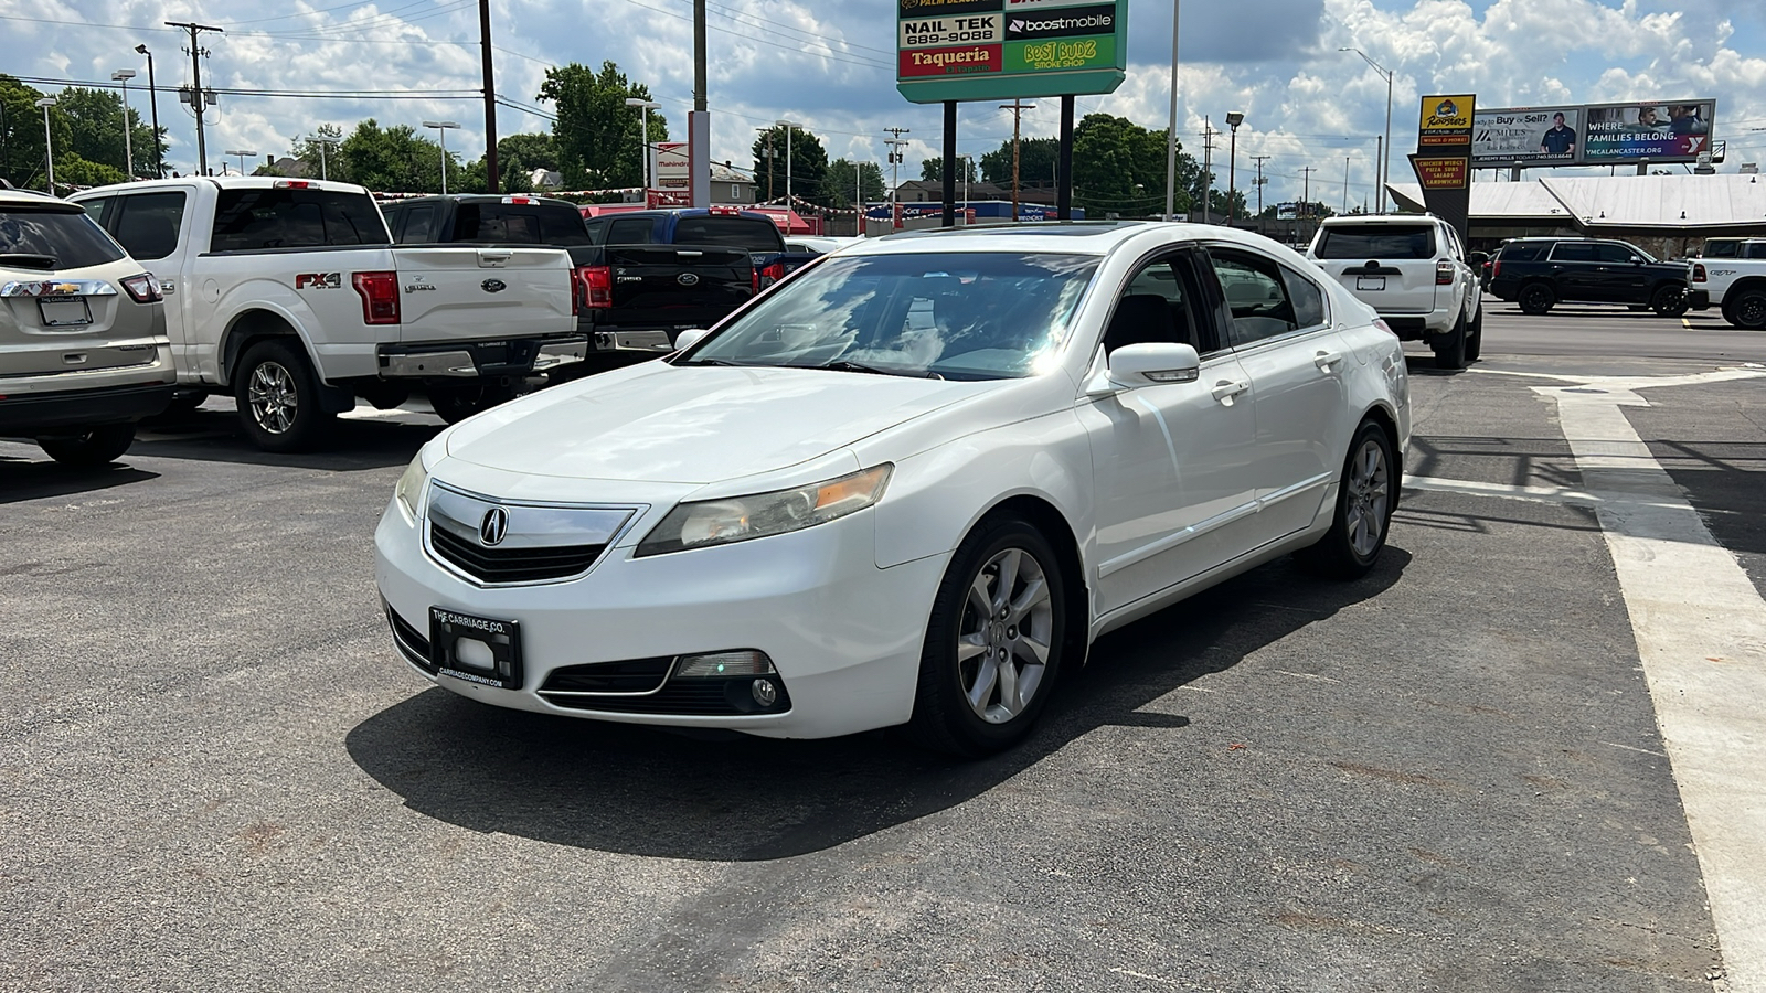
M975 528L945 571L925 625L908 735L980 758L1030 733L1061 670L1067 583L1033 525L998 518Z

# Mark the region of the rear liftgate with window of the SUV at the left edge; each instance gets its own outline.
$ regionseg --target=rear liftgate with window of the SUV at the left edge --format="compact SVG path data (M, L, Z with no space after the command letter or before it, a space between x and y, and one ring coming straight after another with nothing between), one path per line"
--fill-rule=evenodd
M7 376L150 364L155 307L120 286L140 272L79 207L0 201L0 394Z

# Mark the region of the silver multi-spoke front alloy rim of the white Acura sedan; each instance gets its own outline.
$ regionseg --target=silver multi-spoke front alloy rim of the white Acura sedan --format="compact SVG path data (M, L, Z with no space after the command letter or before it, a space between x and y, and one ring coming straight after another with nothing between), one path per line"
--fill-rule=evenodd
M1035 700L1049 668L1054 601L1042 562L1023 548L987 560L957 625L957 678L970 709L1005 724Z

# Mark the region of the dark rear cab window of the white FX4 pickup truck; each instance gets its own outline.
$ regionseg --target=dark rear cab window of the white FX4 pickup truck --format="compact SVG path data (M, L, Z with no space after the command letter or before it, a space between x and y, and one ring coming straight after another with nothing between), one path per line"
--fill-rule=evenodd
M210 251L385 246L387 224L366 193L223 189Z

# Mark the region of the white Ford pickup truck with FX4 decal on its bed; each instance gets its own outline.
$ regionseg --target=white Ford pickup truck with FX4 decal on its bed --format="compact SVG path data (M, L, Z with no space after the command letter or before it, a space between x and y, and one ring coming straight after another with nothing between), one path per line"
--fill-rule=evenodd
M159 279L184 403L231 394L267 451L413 383L454 421L588 353L563 251L394 247L360 186L189 177L71 200Z

